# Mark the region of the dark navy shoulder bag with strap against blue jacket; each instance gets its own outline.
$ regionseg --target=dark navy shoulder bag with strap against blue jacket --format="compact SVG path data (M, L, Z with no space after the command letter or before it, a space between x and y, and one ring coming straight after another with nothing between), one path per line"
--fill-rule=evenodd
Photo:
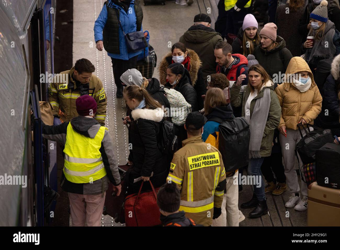
M119 12L116 8L114 8L117 13L117 19L119 22L119 26L122 29L122 32L125 37L126 46L128 47L128 52L137 52L143 50L148 47L147 39L144 37L144 33L142 31L135 31L128 34L125 34L123 30L123 26L119 20Z

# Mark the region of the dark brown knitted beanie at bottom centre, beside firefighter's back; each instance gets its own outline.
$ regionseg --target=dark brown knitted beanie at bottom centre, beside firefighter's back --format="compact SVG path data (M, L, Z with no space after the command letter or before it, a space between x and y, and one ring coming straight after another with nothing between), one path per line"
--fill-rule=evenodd
M167 213L173 213L180 209L181 194L176 184L165 183L158 191L157 205Z

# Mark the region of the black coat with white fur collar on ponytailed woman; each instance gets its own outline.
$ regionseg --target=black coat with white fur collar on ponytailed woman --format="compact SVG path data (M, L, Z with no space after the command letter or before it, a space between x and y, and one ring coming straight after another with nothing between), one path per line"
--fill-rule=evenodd
M163 120L164 112L160 109L134 109L131 112L131 125L129 129L129 143L131 143L129 160L133 162L133 169L129 173L130 194L137 193L141 181L133 183L140 176L153 176L150 181L155 187L163 185L168 175L166 155L158 149L157 142L160 140L160 121ZM143 184L142 190L150 190L149 182Z

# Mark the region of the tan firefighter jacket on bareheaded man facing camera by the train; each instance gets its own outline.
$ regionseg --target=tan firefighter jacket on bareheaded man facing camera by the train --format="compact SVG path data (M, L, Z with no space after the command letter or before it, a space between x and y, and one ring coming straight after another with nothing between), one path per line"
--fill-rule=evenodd
M79 96L87 94L91 95L97 102L96 120L101 125L105 125L107 100L102 82L97 76L92 74L88 84L76 86L72 78L73 72L74 67L71 70L61 72L53 78L53 82L48 88L49 102L53 108L53 115L60 116L62 122L71 121L73 117L78 116L75 100ZM73 87L73 90L70 87ZM60 113L63 115L60 115Z

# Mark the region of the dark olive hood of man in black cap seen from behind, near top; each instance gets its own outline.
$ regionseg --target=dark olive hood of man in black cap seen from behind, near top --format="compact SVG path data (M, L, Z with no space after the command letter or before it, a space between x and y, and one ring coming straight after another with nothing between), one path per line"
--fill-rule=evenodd
M202 43L210 40L217 35L220 34L217 33L214 29L199 24L192 25L186 32L184 32L183 37L188 42Z

